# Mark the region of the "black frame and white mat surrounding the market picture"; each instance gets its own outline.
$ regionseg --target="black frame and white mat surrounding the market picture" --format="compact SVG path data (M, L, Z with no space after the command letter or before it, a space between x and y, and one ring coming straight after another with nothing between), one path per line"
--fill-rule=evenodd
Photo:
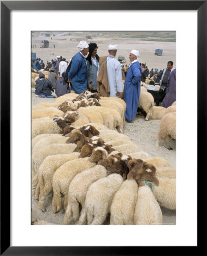
M206 155L206 10L206 1L1 1L1 255L197 248L197 170ZM31 225L31 31L176 31L176 225Z

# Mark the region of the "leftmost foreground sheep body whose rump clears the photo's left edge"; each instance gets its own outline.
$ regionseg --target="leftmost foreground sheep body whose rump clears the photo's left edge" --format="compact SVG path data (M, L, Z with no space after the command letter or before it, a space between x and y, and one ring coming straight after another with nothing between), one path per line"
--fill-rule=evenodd
M38 170L38 185L36 186L35 199L39 198L39 209L44 211L45 196L52 191L52 177L56 170L64 163L77 159L80 153L48 155Z

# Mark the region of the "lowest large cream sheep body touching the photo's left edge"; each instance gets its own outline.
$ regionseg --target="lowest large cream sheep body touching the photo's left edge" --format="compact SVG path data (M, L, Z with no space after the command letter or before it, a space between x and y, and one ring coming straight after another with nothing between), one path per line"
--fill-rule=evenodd
M38 170L40 164L48 155L69 154L72 153L76 144L49 144L43 146L38 151L32 154L32 195L35 193L36 185L38 184Z

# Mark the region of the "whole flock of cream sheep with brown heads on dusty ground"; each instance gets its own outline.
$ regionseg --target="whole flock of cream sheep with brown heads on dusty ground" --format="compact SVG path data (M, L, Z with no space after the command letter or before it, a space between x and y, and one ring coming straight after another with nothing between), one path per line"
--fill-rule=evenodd
M157 137L175 137L175 102L154 106L140 93L148 119L162 119ZM162 224L160 206L176 209L175 168L152 158L123 134L126 104L121 98L85 91L32 106L32 196L45 209L65 210L63 224ZM39 222L36 224L48 224Z

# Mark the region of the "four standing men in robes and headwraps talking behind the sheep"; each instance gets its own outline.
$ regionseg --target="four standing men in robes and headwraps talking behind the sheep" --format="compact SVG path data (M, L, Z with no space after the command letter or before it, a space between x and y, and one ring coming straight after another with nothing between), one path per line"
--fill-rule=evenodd
M98 92L103 97L119 97L123 92L122 72L124 72L125 118L127 122L132 122L137 113L142 76L139 51L133 49L129 53L130 65L126 71L115 59L117 45L110 44L107 47L109 55L103 57L97 55L96 43L88 44L86 41L81 41L77 48L78 52L72 57L65 71L65 82L70 85L70 89L77 94L89 89L92 92ZM165 75L168 75L168 71L165 71ZM165 76L163 78L165 79Z

